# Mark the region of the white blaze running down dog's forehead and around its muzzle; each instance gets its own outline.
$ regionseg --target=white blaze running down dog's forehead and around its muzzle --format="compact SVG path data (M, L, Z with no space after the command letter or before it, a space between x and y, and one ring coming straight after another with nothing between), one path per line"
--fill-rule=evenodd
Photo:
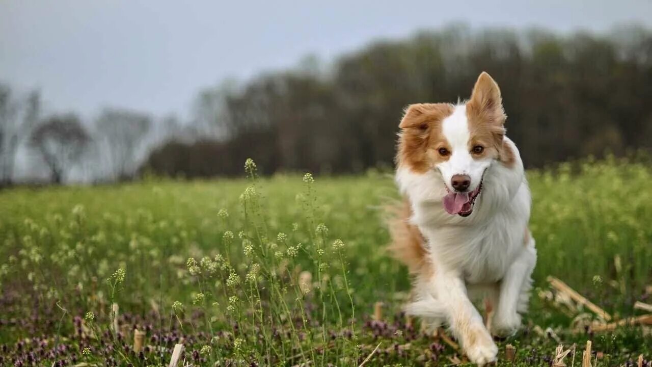
M441 124L443 136L451 145L451 157L437 164L443 180L451 187L452 176L456 174L466 174L471 177L471 186L469 191L473 191L482 180L482 173L491 164L490 159L473 159L469 152L469 121L466 117L466 105L458 104L455 106L451 116L445 118Z

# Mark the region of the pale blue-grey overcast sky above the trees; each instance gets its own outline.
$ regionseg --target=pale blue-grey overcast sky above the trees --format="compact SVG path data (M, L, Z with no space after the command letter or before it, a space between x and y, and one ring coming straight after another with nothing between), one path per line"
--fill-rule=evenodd
M224 78L291 67L306 54L331 61L452 22L650 27L652 1L0 0L0 80L40 88L50 111L121 106L184 117L200 88Z

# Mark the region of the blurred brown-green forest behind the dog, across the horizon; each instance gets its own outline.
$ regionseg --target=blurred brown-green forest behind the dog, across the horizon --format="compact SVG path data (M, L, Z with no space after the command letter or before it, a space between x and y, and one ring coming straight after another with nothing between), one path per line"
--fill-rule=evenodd
M527 167L652 148L652 33L635 26L600 35L466 26L424 31L379 40L327 65L307 58L295 69L200 91L193 120L155 124L154 139L146 137L146 116L115 110L95 121L95 132L76 136L84 146L104 142L107 152L122 147L125 156L106 155L128 161L112 179L145 171L235 176L248 157L264 174L363 172L393 165L405 106L467 98L481 71L501 88L507 135ZM136 133L121 136L115 123L121 120ZM119 142L134 136L147 148ZM38 147L37 136L30 141Z

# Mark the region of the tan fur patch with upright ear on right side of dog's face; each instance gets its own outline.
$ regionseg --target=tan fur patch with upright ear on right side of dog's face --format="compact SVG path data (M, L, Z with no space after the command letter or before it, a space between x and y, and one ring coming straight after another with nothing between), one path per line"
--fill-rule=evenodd
M474 157L494 157L503 165L512 167L514 152L511 147L504 144L505 120L507 116L503 110L503 99L498 84L486 72L480 74L471 99L466 103L466 117L469 121L469 151L474 146L484 148L481 154L473 154Z

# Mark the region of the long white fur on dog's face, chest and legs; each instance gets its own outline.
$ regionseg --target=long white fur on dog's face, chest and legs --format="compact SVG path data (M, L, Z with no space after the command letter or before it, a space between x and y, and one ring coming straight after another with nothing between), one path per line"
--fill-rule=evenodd
M464 104L458 104L442 123L451 145L449 160L424 174L408 167L396 171L400 191L411 200L411 223L426 238L434 265L432 278L417 280L417 299L406 311L427 317L434 326L447 323L469 359L482 365L496 360L497 347L471 299L485 295L494 300L492 331L510 334L520 326L518 312L527 308L537 259L531 236L524 244L531 197L518 149L509 138L504 138L504 144L512 149L516 162L505 167L496 159L471 157ZM454 174L471 177L469 191L484 174L482 192L469 217L443 209L446 185Z

